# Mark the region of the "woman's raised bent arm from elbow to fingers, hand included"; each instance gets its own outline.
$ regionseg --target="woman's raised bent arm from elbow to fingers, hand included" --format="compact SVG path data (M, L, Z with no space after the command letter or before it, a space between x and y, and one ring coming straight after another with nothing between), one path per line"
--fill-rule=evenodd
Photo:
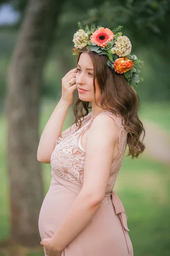
M50 163L56 140L61 136L65 116L73 101L74 90L77 89L77 84L75 83L76 73L77 69L74 68L62 78L61 99L45 125L37 149L37 159L42 163ZM71 86L68 83L70 80L73 83Z

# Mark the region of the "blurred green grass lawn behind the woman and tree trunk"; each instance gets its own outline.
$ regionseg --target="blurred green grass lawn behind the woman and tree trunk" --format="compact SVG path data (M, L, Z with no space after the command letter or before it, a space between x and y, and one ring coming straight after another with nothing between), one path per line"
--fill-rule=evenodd
M48 121L56 102L45 101L41 112L40 134ZM148 110L146 109L148 106ZM154 115L154 110L158 110ZM164 105L145 105L142 115L167 127L168 111ZM72 111L70 109L70 111ZM163 113L163 114L162 114ZM152 116L152 118L150 117ZM72 123L68 113L63 130ZM0 116L0 239L9 236L8 175L6 157L6 122ZM51 181L51 165L42 163L45 193ZM145 154L132 160L124 157L117 176L114 190L122 201L127 214L129 236L133 244L134 256L169 256L170 255L170 166L150 160ZM31 253L40 256L44 253Z

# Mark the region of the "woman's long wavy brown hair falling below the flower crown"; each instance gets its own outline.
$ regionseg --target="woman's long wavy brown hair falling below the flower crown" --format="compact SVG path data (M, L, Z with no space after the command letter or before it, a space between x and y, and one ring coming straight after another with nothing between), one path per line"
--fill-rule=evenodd
M79 50L77 55L76 64L79 62L80 55L82 52L88 53L93 64L94 64L94 97L96 102L96 87L95 79L99 84L101 91L101 107L103 110L111 111L113 114L119 113L122 119L122 125L125 127L127 133L127 145L129 148L127 156L138 157L144 149L144 136L145 129L141 120L138 117L139 108L139 96L137 95L134 88L127 82L123 74L115 73L114 70L108 66L108 56L98 55L96 52L91 51L83 47ZM108 107L109 105L113 107ZM97 105L97 102L96 102ZM88 115L89 109L91 109L90 102L84 102L77 97L73 111L76 117L76 125L79 123L79 128L84 120L84 117ZM83 113L85 111L85 113ZM79 113L78 113L79 112ZM82 119L82 120L81 120ZM124 122L123 122L124 120ZM78 128L78 129L79 129ZM140 137L143 132L143 137Z

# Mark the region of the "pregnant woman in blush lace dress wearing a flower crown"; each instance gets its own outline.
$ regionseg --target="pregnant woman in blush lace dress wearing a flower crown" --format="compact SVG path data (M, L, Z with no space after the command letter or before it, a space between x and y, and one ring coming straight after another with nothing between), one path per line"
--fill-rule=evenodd
M40 209L41 245L45 256L133 256L127 215L113 188L127 145L132 158L145 148L133 88L142 80L142 61L130 55L120 26L78 26L77 67L62 78L61 99L37 150L52 175ZM62 131L74 90L76 119Z

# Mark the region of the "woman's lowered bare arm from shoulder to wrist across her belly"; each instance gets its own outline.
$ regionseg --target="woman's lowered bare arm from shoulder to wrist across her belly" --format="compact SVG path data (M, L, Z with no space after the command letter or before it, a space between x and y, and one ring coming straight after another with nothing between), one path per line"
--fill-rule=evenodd
M88 131L83 186L51 238L51 247L55 250L63 250L99 209L108 184L117 134L117 126L110 116L102 114L94 118Z

